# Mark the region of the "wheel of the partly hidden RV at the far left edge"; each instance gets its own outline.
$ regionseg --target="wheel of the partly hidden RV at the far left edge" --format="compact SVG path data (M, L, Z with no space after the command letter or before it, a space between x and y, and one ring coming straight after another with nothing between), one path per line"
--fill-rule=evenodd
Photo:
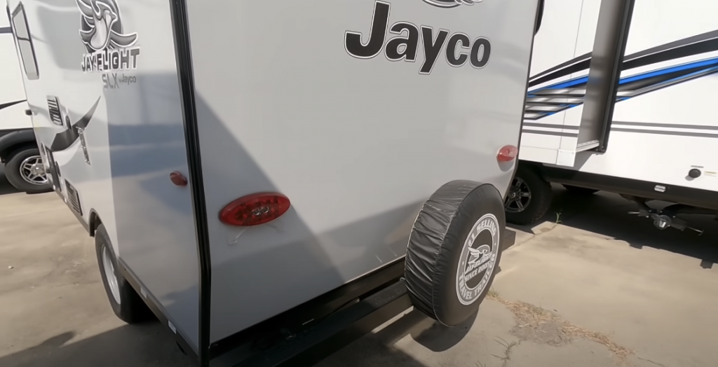
M20 148L11 153L5 163L5 176L15 189L28 194L52 191L40 151L34 147Z

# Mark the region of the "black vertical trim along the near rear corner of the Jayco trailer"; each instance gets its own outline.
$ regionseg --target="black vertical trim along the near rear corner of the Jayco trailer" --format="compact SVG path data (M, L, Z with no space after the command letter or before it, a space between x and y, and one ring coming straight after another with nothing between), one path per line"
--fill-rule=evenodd
M180 82L182 118L184 119L185 140L187 143L187 166L190 171L189 181L190 189L192 190L192 209L195 214L195 230L197 232L197 257L200 270L200 335L199 345L197 345L197 355L199 356L200 366L207 367L210 361L212 260L210 259L210 236L207 224L205 185L202 180L200 134L197 126L197 110L195 107L195 82L192 72L187 3L185 0L169 0L169 7L172 11L172 34L174 35L174 51L177 55L177 77Z

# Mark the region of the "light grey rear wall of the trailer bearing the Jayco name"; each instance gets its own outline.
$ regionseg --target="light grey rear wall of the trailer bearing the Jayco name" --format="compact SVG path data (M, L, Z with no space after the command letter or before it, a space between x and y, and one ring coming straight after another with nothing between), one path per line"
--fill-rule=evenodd
M537 4L187 3L213 341L404 257L421 205L448 181L505 192L513 163L496 155L518 145ZM392 54L406 51L393 37L417 54ZM466 41L451 49L449 37ZM292 208L261 227L220 223L223 206L261 191Z

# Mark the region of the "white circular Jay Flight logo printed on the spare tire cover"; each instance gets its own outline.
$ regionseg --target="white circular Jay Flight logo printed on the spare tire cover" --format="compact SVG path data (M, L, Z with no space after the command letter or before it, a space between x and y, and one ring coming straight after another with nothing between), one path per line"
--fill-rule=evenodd
M491 279L500 248L498 229L496 216L485 214L466 237L456 274L456 294L462 305L475 302Z

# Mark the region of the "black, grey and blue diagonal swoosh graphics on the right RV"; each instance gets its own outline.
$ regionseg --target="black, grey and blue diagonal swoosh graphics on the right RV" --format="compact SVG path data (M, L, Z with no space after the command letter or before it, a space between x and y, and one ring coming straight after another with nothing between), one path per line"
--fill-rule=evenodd
M630 70L635 67L717 50L718 30L629 54L623 58L622 67L623 70ZM587 70L590 60L591 55L584 54L569 62L564 62L564 64L531 77L529 86L555 80L572 72ZM623 77L618 82L616 102L717 72L718 57L713 57ZM524 120L538 120L582 105L586 95L587 82L588 76L583 76L529 90Z

